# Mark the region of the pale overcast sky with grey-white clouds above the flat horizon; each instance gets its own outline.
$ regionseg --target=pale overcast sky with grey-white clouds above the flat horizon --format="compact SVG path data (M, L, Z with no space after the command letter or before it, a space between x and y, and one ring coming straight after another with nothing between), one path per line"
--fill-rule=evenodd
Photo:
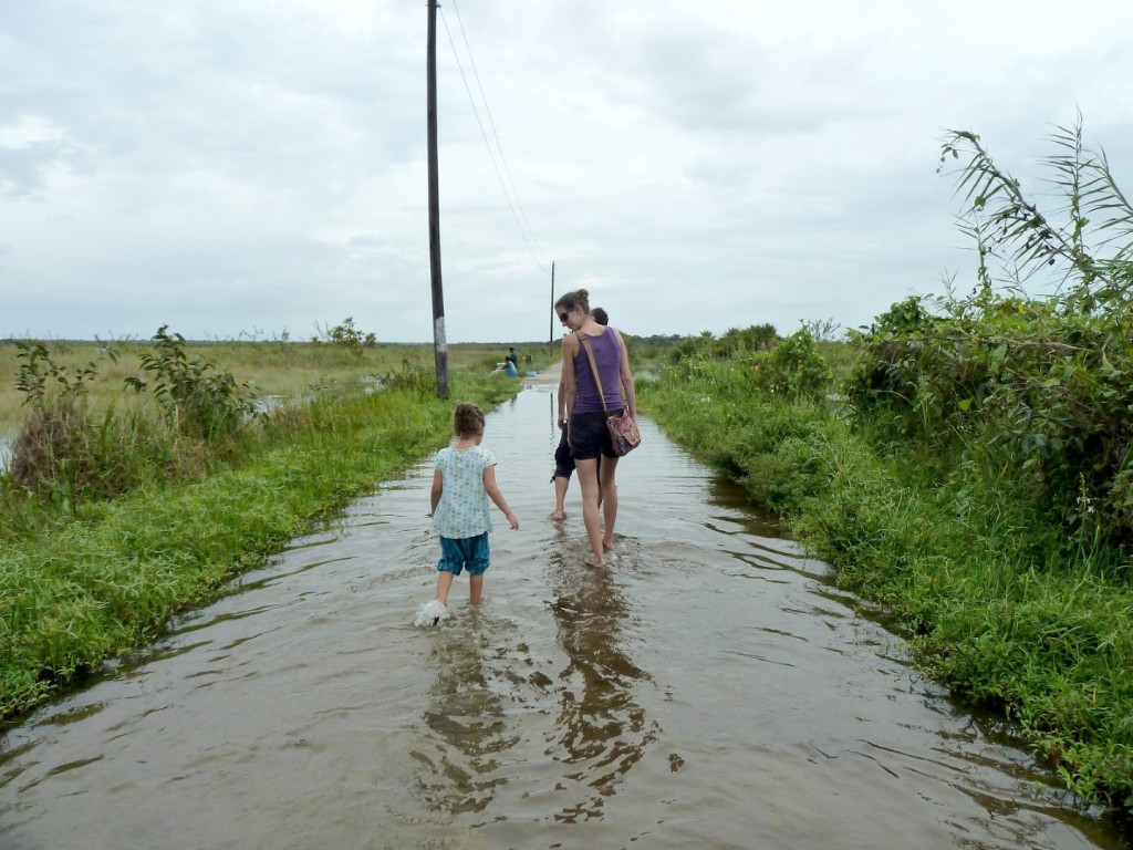
M431 341L426 25L0 0L0 337ZM448 341L557 337L552 261L640 335L968 288L944 131L1026 182L1081 110L1133 193L1131 42L1128 0L446 0Z

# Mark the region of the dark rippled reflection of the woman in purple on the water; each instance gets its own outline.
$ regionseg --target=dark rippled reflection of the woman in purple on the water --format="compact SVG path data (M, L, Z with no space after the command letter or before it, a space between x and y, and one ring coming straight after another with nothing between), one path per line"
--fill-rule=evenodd
M606 798L661 730L637 700L639 685L650 677L630 657L631 612L612 573L555 553L548 579L559 646L569 662L559 673L559 714L546 755L571 765L565 779L590 789L555 816L577 823L602 817Z

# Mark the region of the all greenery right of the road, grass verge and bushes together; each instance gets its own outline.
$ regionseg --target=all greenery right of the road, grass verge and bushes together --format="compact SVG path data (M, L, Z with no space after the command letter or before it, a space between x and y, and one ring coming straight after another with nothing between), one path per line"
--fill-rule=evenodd
M1080 127L1053 141L1059 223L977 136L945 142L966 297L906 299L841 345L690 340L639 397L889 610L925 670L1128 817L1133 207Z

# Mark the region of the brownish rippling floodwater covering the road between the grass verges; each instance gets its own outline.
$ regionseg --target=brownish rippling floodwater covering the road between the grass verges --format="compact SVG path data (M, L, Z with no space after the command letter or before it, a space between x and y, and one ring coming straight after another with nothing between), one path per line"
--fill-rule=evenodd
M429 466L3 740L0 847L1119 848L650 423L608 575L553 397L488 419L520 515L432 595Z

